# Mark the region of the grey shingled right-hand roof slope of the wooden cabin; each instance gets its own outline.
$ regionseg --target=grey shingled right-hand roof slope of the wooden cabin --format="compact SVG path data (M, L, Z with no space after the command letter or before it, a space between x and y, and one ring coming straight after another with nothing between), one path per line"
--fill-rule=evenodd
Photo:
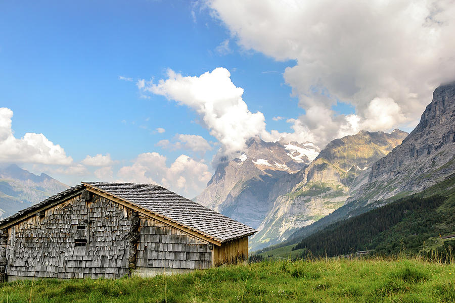
M249 236L255 229L199 203L153 184L82 182L171 221L196 229L221 242Z

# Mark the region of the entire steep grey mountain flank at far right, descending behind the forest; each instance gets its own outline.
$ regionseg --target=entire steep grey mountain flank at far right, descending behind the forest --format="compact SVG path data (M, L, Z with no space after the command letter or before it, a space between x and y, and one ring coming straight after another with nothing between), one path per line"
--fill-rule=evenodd
M435 89L433 99L416 128L387 156L374 163L367 182L353 193L344 206L321 220L296 230L276 247L295 243L334 222L358 216L401 197L448 182L455 172L454 121L455 82L451 82Z

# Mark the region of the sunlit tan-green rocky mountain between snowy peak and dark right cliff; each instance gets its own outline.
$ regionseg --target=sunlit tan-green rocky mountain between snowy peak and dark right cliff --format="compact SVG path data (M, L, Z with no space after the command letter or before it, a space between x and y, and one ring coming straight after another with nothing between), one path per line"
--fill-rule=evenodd
M367 182L372 164L406 135L398 129L390 134L361 131L331 141L305 170L276 183L273 208L251 238L251 249L284 241L295 230L343 206Z

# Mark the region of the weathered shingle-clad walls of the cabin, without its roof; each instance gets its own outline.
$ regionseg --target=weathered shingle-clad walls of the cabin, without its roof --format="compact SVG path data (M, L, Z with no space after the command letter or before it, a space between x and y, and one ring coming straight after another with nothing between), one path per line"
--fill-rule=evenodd
M0 279L119 278L248 259L248 237L214 245L97 194L81 194L0 232ZM2 236L3 235L3 236Z

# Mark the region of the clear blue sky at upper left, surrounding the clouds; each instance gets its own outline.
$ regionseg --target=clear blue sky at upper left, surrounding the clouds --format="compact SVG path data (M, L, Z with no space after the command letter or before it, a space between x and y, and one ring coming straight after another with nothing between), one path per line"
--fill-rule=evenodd
M219 54L216 47L228 31L207 11L196 11L193 19L191 2L2 6L0 91L2 106L14 112L15 135L43 133L75 160L98 153L115 159L162 153L155 144L175 133L213 141L188 108L161 96L140 97L135 81L161 79L168 68L200 75L225 67L245 89L249 109L263 112L274 128L289 126L272 117L296 116L297 101L282 77L289 63L239 52L235 43L229 45L232 53ZM277 100L287 106L278 109ZM166 132L154 133L158 127Z

